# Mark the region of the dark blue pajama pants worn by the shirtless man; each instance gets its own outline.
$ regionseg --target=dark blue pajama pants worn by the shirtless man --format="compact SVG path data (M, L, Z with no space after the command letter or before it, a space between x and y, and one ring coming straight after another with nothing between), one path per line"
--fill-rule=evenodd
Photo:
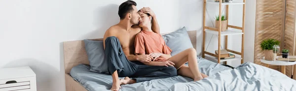
M136 79L137 82L177 76L175 67L148 66L139 61L129 61L119 40L114 36L108 37L105 40L105 45L109 74L113 74L117 70L118 77L130 77Z

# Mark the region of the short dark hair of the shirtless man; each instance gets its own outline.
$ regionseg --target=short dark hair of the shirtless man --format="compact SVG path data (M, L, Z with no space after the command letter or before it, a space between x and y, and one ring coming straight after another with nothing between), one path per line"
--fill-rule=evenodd
M134 10L133 5L137 6L137 3L133 0L127 0L119 5L118 15L120 20L123 20L127 13Z

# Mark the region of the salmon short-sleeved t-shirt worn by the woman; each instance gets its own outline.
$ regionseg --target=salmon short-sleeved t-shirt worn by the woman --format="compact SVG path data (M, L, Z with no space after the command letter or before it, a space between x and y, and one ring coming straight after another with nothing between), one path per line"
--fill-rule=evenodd
M135 38L135 53L163 53L171 54L172 50L165 42L160 34L151 31L141 31Z

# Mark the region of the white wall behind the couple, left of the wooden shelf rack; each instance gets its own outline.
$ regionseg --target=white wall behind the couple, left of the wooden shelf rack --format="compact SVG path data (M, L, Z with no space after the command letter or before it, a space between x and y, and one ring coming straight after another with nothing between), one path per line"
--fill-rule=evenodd
M62 42L102 38L123 1L0 0L0 68L30 66L37 91L65 91ZM154 10L162 33L186 26L201 43L203 0L135 1Z

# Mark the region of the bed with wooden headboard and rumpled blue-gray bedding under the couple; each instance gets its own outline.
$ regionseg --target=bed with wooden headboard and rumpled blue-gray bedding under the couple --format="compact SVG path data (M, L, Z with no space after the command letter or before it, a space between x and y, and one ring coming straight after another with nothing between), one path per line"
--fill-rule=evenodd
M196 31L187 31L196 46ZM102 39L94 39L102 40ZM196 49L196 48L195 48ZM253 63L234 69L198 57L201 72L209 75L200 81L175 76L123 85L121 91L296 91L296 81L286 75ZM66 91L109 91L111 75L89 71L83 41L64 42ZM186 65L186 64L185 64Z

